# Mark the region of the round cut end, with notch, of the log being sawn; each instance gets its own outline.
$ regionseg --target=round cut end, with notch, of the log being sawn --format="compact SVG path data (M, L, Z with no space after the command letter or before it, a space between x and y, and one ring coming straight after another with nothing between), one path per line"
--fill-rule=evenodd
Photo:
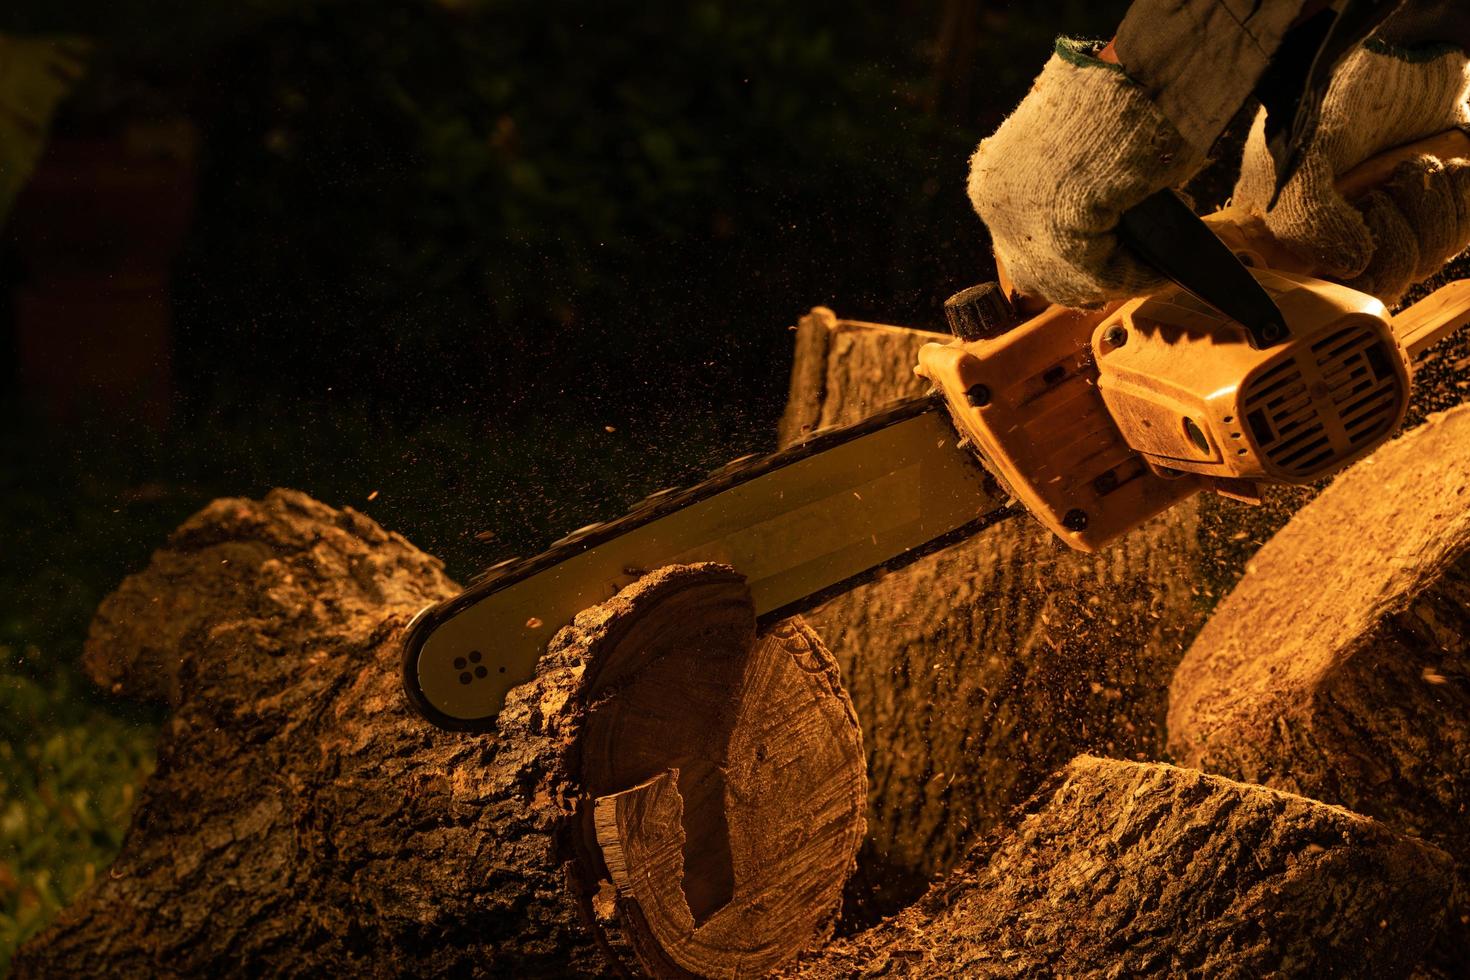
M592 660L581 773L589 895L656 976L756 976L822 939L863 837L863 749L806 627L754 636L729 570L666 580Z

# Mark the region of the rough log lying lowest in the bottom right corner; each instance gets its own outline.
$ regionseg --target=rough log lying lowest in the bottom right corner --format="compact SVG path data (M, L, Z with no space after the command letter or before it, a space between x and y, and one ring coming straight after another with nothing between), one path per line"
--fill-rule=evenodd
M1448 865L1338 807L1080 757L1013 833L788 976L1408 976L1444 918Z

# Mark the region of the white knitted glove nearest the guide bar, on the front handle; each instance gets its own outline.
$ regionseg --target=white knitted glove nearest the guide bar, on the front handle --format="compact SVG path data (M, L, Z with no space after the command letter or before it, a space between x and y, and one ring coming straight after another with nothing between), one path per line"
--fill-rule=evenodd
M970 203L995 257L1022 292L1070 307L1164 285L1114 229L1125 210L1205 160L1091 48L1058 40L1030 93L970 157Z

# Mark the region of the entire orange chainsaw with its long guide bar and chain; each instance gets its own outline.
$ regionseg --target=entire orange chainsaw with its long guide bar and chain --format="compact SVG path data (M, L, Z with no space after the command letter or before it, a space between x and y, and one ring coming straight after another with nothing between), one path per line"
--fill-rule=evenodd
M1401 147L1338 187L1352 198L1424 153L1470 157L1470 138ZM1396 432L1414 359L1470 322L1470 279L1389 316L1314 278L1258 217L1200 219L1173 191L1119 235L1176 285L1072 310L1017 295L1001 269L945 303L957 336L914 367L929 395L735 460L420 611L409 701L441 727L492 729L559 627L664 564L734 566L775 621L1016 514L1097 551L1200 492L1314 483Z

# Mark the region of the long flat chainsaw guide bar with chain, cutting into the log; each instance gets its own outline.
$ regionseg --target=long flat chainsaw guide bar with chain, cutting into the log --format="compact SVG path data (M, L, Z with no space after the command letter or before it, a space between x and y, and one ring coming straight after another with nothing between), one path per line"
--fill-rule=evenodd
M440 727L491 730L551 636L645 572L728 563L750 583L757 617L775 621L1016 513L941 400L901 401L491 569L413 619L404 691Z

